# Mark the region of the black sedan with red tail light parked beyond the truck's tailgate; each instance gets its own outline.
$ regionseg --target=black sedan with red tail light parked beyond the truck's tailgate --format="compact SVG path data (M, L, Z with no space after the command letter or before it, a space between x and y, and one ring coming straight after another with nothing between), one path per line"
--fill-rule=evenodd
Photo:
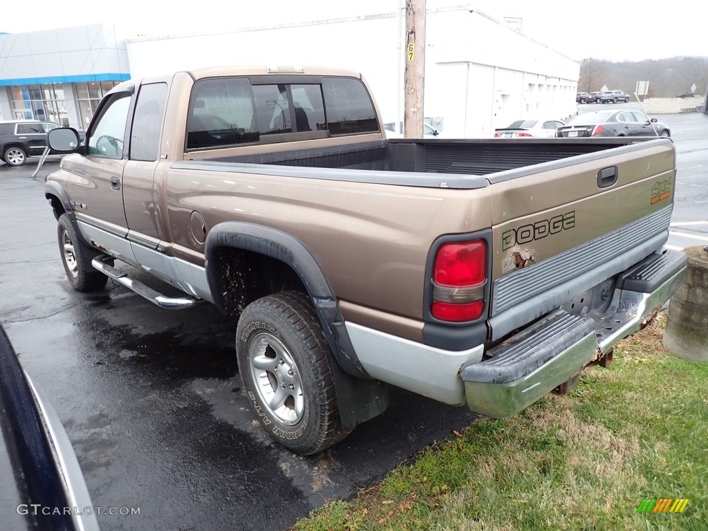
M656 118L636 110L595 110L577 115L558 128L561 138L575 137L670 137L671 131Z

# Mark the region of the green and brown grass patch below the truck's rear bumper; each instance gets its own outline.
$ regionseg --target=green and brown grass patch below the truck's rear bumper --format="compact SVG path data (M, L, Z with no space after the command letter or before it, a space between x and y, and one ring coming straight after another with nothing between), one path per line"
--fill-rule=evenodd
M661 346L662 314L568 396L482 419L295 530L708 530L708 364ZM683 513L636 513L690 498Z

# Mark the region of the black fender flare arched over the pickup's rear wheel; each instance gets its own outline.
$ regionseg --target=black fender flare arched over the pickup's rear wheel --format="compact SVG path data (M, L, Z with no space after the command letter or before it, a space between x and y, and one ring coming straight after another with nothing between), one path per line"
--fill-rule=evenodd
M353 377L370 377L354 352L334 291L316 259L302 241L279 229L248 222L222 222L213 227L204 244L204 268L214 304L224 312L224 298L213 267L215 253L220 247L253 251L289 265L312 299L338 365Z

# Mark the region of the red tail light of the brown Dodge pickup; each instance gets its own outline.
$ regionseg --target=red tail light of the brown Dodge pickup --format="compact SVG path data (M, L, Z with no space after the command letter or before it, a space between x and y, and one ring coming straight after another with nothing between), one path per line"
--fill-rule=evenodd
M442 244L433 263L433 317L451 322L479 319L486 305L486 271L486 241Z

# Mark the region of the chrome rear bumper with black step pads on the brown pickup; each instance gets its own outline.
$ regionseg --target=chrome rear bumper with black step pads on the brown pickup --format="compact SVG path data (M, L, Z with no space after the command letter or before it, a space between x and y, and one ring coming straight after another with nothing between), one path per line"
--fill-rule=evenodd
M619 275L603 312L559 309L491 349L462 370L467 406L493 417L530 406L641 329L678 289L686 264L683 253L653 255Z

